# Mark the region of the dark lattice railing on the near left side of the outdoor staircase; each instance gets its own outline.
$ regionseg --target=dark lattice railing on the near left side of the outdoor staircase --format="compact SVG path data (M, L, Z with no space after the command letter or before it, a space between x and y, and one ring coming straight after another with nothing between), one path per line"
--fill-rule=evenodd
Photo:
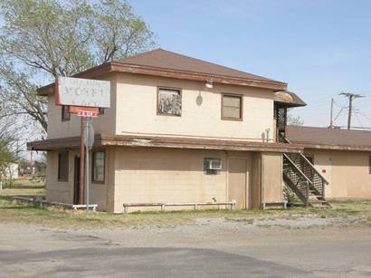
M309 187L313 183L286 154L283 154L283 179L300 200L309 206Z

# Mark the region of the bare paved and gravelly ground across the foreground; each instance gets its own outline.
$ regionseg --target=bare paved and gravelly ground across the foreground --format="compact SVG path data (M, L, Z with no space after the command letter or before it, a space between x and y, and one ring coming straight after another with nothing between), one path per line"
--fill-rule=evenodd
M141 228L7 222L0 235L0 277L371 276L365 225L250 225L218 217Z

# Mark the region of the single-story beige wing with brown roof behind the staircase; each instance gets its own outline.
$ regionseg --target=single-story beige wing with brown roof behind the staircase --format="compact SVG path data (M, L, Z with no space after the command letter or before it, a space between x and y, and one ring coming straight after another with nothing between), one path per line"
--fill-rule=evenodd
M286 138L328 180L328 199L371 198L371 131L288 126Z

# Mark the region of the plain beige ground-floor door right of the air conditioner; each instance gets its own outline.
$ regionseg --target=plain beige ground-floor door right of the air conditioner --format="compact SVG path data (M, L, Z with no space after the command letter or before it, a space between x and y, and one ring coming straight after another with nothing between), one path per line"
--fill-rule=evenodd
M247 208L246 190L246 159L228 159L228 199L236 201L236 208Z

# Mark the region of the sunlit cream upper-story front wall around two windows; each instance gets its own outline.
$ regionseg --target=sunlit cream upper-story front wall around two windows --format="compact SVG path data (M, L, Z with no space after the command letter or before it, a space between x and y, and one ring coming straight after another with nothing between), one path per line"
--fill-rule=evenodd
M262 141L273 133L273 91L119 73L116 134L176 135ZM182 91L182 115L157 115L157 88ZM222 120L222 93L243 95L243 120ZM200 97L201 100L200 101ZM202 103L200 103L202 102Z

